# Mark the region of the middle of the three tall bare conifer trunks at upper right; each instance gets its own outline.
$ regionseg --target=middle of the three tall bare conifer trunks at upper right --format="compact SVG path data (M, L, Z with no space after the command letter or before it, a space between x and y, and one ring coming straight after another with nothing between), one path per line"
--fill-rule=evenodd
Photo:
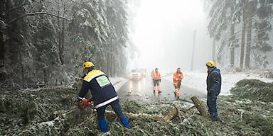
M243 2L243 11L242 11L242 42L241 42L241 55L240 55L240 68L243 67L244 57L245 57L245 29L247 26L247 13L246 13L246 4Z

